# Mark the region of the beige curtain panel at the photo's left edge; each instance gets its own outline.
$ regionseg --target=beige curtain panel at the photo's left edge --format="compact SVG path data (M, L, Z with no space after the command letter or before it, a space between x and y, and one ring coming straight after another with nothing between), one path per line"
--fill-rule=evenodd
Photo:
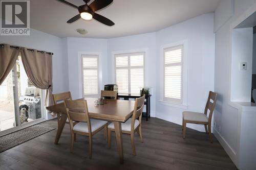
M19 48L10 47L8 44L0 45L0 85L12 70L19 52Z

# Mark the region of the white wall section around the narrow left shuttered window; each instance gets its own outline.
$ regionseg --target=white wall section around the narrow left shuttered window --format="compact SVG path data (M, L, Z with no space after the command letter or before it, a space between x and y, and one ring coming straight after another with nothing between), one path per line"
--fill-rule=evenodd
M99 53L100 90L108 84L108 40L96 38L65 38L68 54L69 90L73 99L82 98L81 56L78 53Z

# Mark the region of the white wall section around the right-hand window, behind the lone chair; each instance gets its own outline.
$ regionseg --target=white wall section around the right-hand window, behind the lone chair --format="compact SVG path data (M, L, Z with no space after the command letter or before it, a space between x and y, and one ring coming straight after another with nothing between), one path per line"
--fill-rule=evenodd
M168 106L161 102L163 93L160 77L163 66L159 59L160 47L187 40L188 80L187 107ZM156 116L182 124L184 110L203 112L209 90L214 90L215 55L214 14L204 14L156 33ZM204 126L188 124L187 127L205 131Z

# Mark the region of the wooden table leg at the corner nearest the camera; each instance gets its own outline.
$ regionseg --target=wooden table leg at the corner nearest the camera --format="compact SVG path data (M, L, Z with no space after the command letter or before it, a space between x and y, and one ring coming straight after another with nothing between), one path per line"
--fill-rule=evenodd
M115 126L115 133L116 133L116 143L117 143L117 150L119 154L120 163L123 163L123 139L122 139L122 129L120 122L114 122Z

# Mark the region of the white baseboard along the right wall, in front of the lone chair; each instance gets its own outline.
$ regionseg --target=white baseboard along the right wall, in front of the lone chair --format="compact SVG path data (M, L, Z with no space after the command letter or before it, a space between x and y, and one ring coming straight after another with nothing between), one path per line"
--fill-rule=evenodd
M223 136L221 136L221 134L215 128L213 128L213 133L217 140L221 143L222 147L224 148L230 159L238 167L237 153L230 147L228 142L223 138Z

